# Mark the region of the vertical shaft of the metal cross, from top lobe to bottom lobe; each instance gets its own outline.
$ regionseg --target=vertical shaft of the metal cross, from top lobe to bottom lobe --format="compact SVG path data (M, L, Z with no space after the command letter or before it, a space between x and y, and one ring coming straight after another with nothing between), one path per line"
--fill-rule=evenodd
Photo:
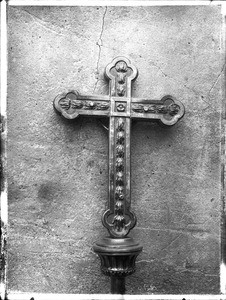
M103 224L113 237L124 237L136 224L130 212L130 107L131 81L137 69L129 60L117 57L106 67L110 80L111 114L109 121L109 208Z

